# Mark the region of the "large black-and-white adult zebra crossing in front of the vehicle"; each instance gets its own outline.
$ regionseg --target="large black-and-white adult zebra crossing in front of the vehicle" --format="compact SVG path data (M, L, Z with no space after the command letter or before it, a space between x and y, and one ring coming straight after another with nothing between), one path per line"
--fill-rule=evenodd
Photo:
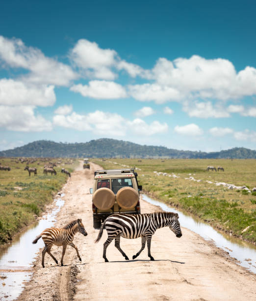
M150 260L154 260L151 256L150 247L151 239L155 231L162 227L169 227L175 234L176 237L181 237L182 233L179 225L179 215L173 212L153 212L144 214L128 214L128 213L116 213L108 216L102 227L98 238L95 243L100 241L102 238L103 228L107 231L107 240L103 244L103 258L105 262L108 262L106 258L106 248L109 243L115 239L115 247L121 252L126 260L129 260L125 252L120 247L120 237L127 239L135 239L141 237L141 249L136 255L132 256L135 259L145 248L147 241L148 256Z

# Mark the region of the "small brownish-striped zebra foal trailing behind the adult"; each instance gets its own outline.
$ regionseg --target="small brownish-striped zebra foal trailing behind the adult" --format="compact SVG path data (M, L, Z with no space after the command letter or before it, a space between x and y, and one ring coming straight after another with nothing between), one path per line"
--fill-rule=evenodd
M44 260L45 260L45 253L47 252L51 258L55 261L56 264L58 264L57 259L51 254L51 247L52 244L55 244L57 246L63 246L62 249L62 257L61 257L61 266L63 266L63 257L65 255L66 247L67 245L71 245L73 248L76 249L77 251L77 257L79 258L80 261L81 257L78 253L78 249L75 246L75 244L72 242L74 240L74 236L77 232L80 232L84 236L87 235L87 232L84 229L84 226L82 224L81 218L75 219L69 224L67 224L63 228L48 228L45 229L39 236L35 238L35 240L32 241L32 243L37 243L37 241L42 237L44 243L45 243L45 248L42 253L42 266L43 268L45 267L44 265Z

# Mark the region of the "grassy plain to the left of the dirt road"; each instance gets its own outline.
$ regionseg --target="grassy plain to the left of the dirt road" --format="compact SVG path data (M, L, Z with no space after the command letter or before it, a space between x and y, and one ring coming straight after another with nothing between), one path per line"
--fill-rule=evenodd
M0 170L0 244L10 240L15 233L36 220L45 205L51 203L53 196L67 181L67 175L61 173L61 168L65 167L71 172L77 164L54 167L57 175L45 176L43 166L49 161L37 159L29 164L29 167L37 168L37 176L31 173L29 177L24 170L26 163L16 163L17 160L18 158L0 158L0 165L11 168L10 171ZM60 159L51 160L56 161ZM71 163L69 159L62 159L62 162Z

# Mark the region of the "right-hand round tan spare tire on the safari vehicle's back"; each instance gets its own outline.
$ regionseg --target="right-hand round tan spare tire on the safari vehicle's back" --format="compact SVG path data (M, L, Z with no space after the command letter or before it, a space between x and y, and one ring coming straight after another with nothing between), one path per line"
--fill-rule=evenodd
M138 192L131 187L123 187L116 194L117 204L124 209L135 207L139 200Z

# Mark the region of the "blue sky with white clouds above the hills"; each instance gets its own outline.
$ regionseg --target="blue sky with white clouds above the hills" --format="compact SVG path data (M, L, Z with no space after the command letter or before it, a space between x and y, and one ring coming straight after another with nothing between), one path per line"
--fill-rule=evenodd
M5 1L0 150L256 149L255 1Z

